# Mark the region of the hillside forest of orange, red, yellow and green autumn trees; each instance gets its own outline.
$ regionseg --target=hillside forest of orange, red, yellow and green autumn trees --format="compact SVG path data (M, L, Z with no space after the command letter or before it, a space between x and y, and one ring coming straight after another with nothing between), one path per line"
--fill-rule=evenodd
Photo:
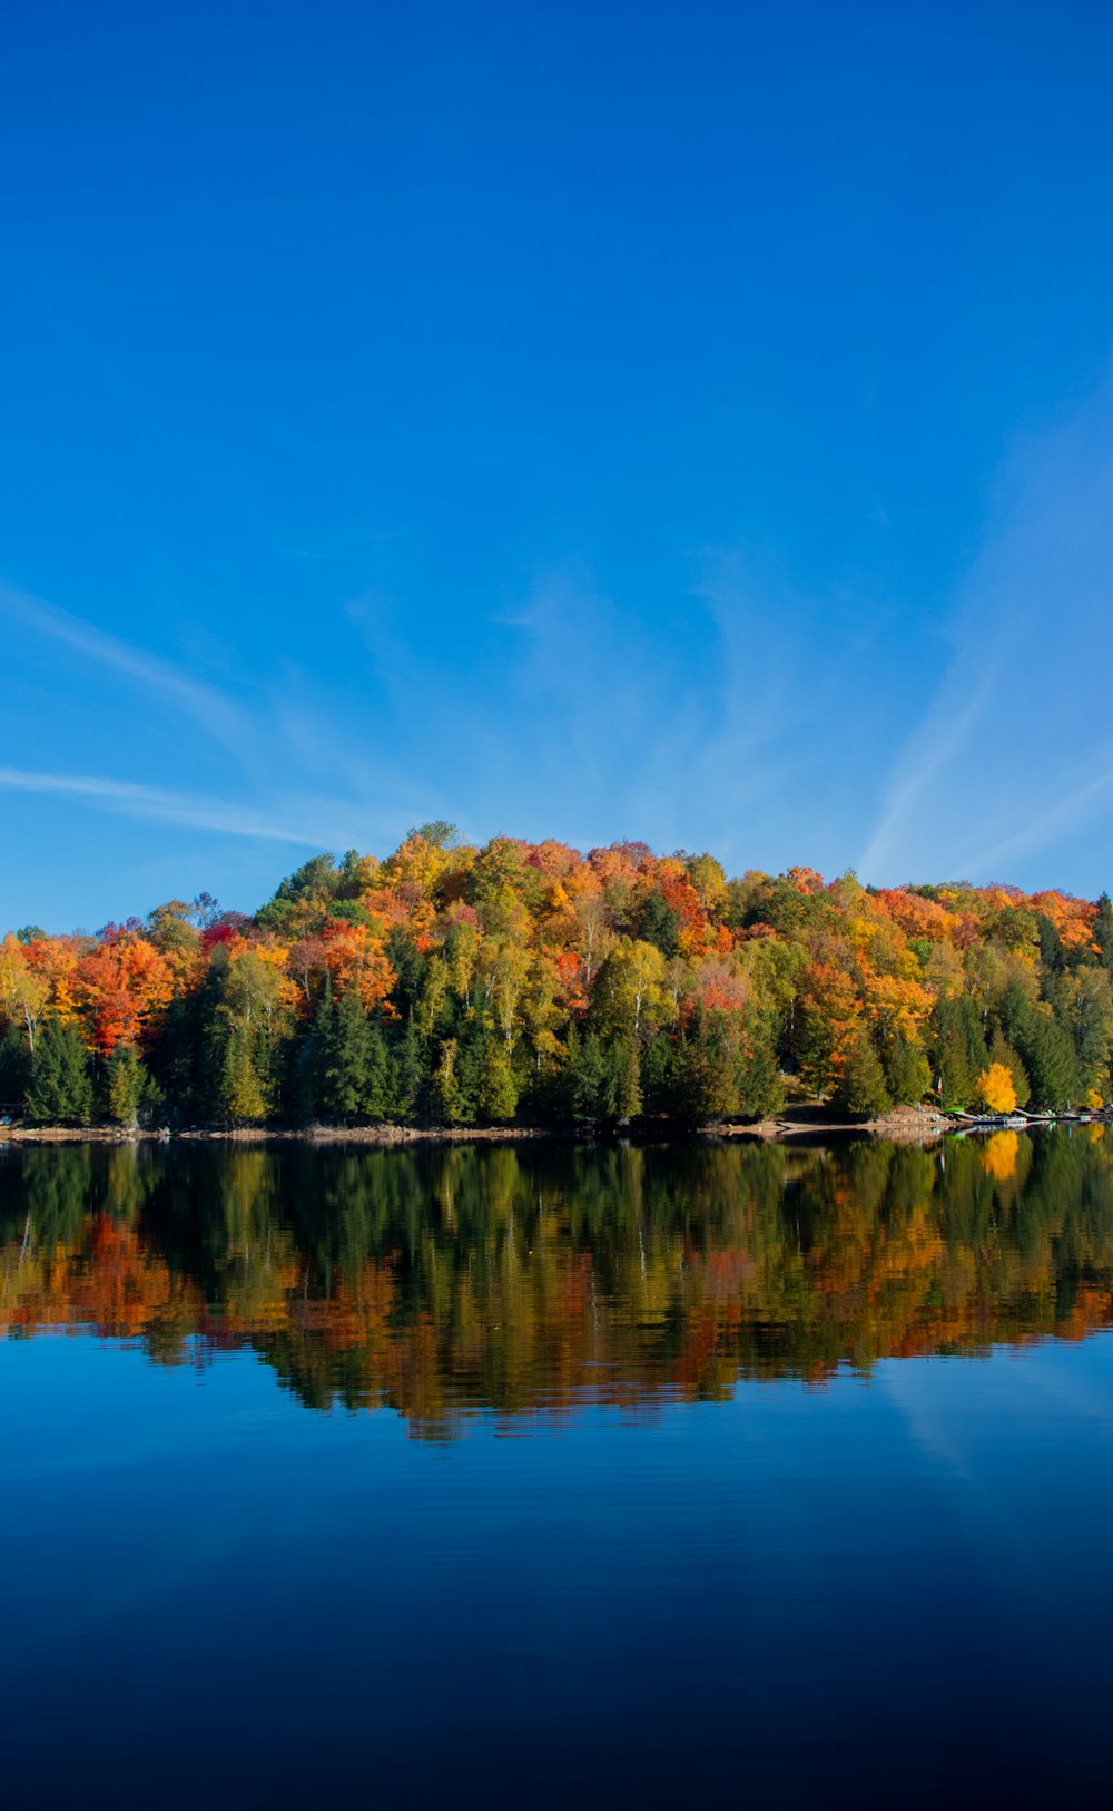
M728 878L713 855L411 831L0 944L0 1108L33 1125L708 1125L1102 1105L1113 906L1012 886Z

